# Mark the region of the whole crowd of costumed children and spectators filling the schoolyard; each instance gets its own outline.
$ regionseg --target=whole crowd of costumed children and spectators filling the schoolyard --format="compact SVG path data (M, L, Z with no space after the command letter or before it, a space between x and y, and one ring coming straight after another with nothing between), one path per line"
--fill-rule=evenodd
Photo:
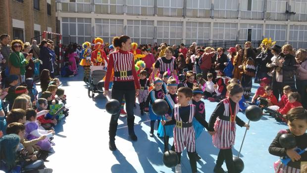
M299 172L303 169L301 163L307 161L306 153L298 156L295 149L286 150L278 143L282 133L292 133L298 139L298 146L302 149L307 147L307 143L303 142L307 141L306 50L295 51L289 44L278 46L270 39L264 39L258 48L246 42L242 46L215 50L198 46L197 43L189 48L183 43L179 47L167 43L138 45L132 43L129 36L120 36L114 37L111 45L96 38L92 43L85 42L82 48L77 44L63 46L64 65L58 69L56 66L59 61L51 40L43 40L39 46L36 41L32 41L32 45L20 40L10 42L7 35L1 35L0 40L0 99L5 100L1 105L4 122L2 133L6 132L0 139L2 170L21 168L18 165L20 162L17 164L12 158L17 146L19 155L27 151L27 158L21 162L28 163L30 159L31 167L39 160L46 160L54 144L53 127L61 118L56 116L57 112L51 115L46 110L54 110L56 105L66 103L64 90L58 88L59 79L54 78L54 75L61 71L61 76L73 77L78 74L80 66L84 68L85 82L89 81L91 66L101 66L106 70L103 94L108 95L112 86L111 98L122 105L119 113L111 115L109 123L111 151L117 149L115 136L119 115L127 116L130 139L138 139L134 132L137 98L141 115L148 114L151 119L151 137L155 136L154 124L157 122L156 135L164 137L166 141L164 151L168 149L168 139L174 137L171 149L179 157L176 173L181 173L180 158L185 147L192 172L197 172L196 162L201 157L196 152L195 141L204 129L212 135L213 145L220 149L214 173L224 173L224 161L228 173L235 173L232 160L235 124L249 128L236 115L239 111L244 112L249 105L259 106L277 121L289 125L288 130L278 133L269 151L276 156L289 156L293 164L279 163L276 172ZM33 80L36 73L40 75L40 99L37 99ZM254 83L260 86L251 97L253 78ZM153 111L152 105L157 99L164 99L169 106L165 118ZM208 122L205 120L205 103L202 99L217 103ZM63 114L68 115L68 110L63 109ZM166 127L165 131L163 126ZM9 153L3 150L7 143L13 146ZM22 168L27 169L26 166ZM289 169L292 171L287 171Z

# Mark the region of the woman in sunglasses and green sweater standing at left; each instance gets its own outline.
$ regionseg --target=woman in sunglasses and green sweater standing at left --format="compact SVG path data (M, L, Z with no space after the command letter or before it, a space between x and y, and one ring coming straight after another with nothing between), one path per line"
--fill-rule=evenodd
M28 54L25 58L21 53L23 50L23 42L21 40L13 40L11 42L12 53L8 57L8 68L9 74L15 74L19 76L19 82L25 82L25 66L29 63L32 58L32 54Z

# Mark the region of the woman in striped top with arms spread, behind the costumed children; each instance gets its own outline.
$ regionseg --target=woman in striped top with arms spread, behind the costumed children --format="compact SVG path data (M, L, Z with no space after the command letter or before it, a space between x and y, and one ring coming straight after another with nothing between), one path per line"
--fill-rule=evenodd
M165 51L165 57L159 57L155 61L153 74L155 74L158 70L161 76L167 70L169 70L172 75L177 79L177 66L175 57L173 57L174 50L172 47L168 46ZM153 77L152 77L153 79Z

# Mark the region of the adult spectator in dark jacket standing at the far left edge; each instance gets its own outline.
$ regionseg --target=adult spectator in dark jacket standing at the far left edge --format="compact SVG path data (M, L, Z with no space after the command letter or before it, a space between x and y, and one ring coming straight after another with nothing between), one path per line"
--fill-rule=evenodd
M0 70L1 70L2 81L5 81L6 77L5 69L7 67L8 56L12 53L11 47L9 45L10 42L11 41L9 35L7 34L0 35L0 53L3 56L3 59L0 59Z

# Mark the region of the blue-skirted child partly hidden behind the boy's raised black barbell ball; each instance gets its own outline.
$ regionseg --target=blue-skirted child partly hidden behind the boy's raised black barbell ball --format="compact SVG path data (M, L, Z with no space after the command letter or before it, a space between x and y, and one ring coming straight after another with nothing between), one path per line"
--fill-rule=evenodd
M163 97L164 97L164 93L163 93L163 90L162 90L162 83L163 83L163 81L160 78L158 78L158 77L154 78L153 90L149 92L147 99L146 99L146 103L145 103L145 106L147 108L149 108L149 117L151 118L150 137L153 137L154 122L157 120L158 121L158 127L159 127L159 123L160 123L160 119L161 119L160 115L155 115L153 113L152 104L155 100L163 99Z

